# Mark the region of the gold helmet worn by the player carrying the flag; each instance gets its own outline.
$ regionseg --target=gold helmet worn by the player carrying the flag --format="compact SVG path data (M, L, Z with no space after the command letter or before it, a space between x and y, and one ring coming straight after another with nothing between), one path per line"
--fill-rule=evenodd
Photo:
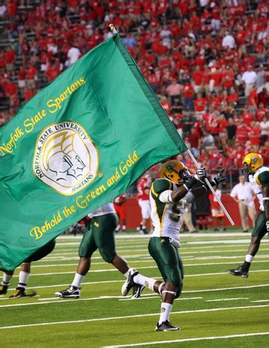
M165 162L160 169L160 177L171 180L177 185L184 184L184 180L188 180L191 175L188 168L181 161L172 159Z

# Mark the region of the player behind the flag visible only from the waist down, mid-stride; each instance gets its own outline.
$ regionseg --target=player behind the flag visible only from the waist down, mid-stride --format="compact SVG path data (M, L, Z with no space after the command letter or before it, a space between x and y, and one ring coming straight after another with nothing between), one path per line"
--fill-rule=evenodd
M78 299L81 295L81 283L90 269L90 259L92 254L98 249L104 261L113 264L124 276L129 275L129 266L127 262L117 255L115 251L115 228L117 228L118 219L115 214L113 203L107 203L99 209L88 214L90 220L90 229L84 232L81 244L79 246L79 264L76 274L70 285L65 290L56 292L56 296L70 297ZM144 286L132 285L133 298L139 297Z

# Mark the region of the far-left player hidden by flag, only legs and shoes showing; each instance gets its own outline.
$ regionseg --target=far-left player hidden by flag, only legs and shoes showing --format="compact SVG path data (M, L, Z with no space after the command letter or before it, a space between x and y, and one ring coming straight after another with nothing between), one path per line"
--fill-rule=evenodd
M54 250L55 244L55 239L52 239L52 241L42 246L40 249L38 249L38 251L35 251L31 256L24 260L24 262L21 264L21 270L19 271L19 283L15 289L15 292L10 296L10 298L35 296L35 292L26 293L25 291L31 272L31 262L41 260L45 256L49 255L49 253ZM3 272L3 278L0 285L0 295L8 292L8 286L13 274L14 270Z

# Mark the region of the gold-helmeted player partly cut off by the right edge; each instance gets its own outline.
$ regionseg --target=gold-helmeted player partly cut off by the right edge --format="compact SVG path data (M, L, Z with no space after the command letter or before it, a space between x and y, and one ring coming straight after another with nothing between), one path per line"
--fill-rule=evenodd
M266 235L266 232L269 232L269 168L263 166L261 155L250 152L243 159L243 174L252 184L252 189L259 200L259 214L255 220L245 262L237 268L228 269L228 271L233 276L247 278L250 264L259 250L261 239Z

